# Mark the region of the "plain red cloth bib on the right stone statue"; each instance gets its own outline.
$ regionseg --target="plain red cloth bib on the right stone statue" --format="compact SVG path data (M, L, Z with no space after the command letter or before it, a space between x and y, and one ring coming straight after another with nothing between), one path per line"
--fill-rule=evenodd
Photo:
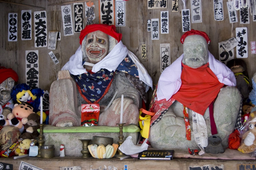
M194 69L182 63L182 84L172 97L191 110L204 115L207 107L224 86L208 67L209 63Z

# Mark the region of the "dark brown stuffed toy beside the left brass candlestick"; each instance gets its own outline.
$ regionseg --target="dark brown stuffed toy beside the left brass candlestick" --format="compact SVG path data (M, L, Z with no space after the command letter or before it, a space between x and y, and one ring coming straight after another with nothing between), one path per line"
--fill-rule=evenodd
M25 132L20 136L22 139L35 139L39 136L37 129L40 123L40 116L36 113L30 114L28 117L27 124L24 125Z

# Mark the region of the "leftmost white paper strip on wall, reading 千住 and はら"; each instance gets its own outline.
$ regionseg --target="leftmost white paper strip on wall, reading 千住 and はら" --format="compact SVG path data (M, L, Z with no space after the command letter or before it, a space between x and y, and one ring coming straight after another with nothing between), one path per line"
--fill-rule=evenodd
M18 13L8 13L8 41L17 41Z

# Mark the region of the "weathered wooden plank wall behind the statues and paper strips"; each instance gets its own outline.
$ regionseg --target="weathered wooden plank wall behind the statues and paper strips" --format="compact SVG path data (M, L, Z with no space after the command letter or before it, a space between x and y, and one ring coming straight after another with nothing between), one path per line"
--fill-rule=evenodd
M6 0L7 1L7 0ZM57 73L63 65L69 60L70 56L74 54L79 47L79 33L72 36L63 35L61 5L51 4L70 2L72 0L8 0L9 2L22 3L32 5L35 7L24 7L0 1L0 63L1 66L14 69L19 76L19 83L25 82L25 51L26 50L39 50L39 87L44 90L50 90L51 83L57 79ZM98 23L98 1L94 0L96 23ZM250 24L234 24L229 23L226 2L223 0L224 20L214 20L213 0L201 1L202 2L202 23L191 23L191 29L205 31L210 39L211 44L208 46L210 52L218 59L218 42L225 39L235 37L236 27L248 28L248 58L244 58L247 64L249 78L256 72L255 57L256 54L250 52L250 41L256 41L256 22L253 22L250 16ZM66 4L69 5L69 4ZM70 3L72 5L72 3ZM40 8L41 7L41 8ZM146 0L129 0L126 1L126 27L117 27L117 32L123 34L122 41L132 51L153 79L153 84L157 84L160 76L160 44L170 43L171 45L171 62L175 61L183 53L180 37L182 33L182 18L181 10L190 9L189 0L179 0L179 12L171 12L171 0L167 0L167 9L147 9ZM42 9L44 8L44 9ZM21 10L31 9L32 13L35 11L46 10L47 12L47 29L61 31L61 41L57 42L54 54L59 60L59 64L55 65L48 55L47 47L35 48L34 47L34 26L32 25L32 40L21 41L21 26L20 26L20 13ZM151 33L147 32L147 20L152 18L160 18L160 11L169 11L169 34L160 34L159 40L151 40ZM8 42L8 13L18 13L18 41ZM239 16L239 11L237 15ZM32 14L33 15L33 14ZM32 19L33 23L33 19ZM85 22L84 22L85 24ZM142 59L141 44L146 44L147 58ZM152 91L149 91L148 99L151 98Z

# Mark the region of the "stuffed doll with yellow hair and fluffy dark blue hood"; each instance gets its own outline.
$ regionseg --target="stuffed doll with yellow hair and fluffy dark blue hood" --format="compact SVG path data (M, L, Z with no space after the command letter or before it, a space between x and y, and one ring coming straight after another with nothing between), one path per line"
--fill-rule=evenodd
M30 90L30 87L25 83L17 84L11 91L11 97L14 102L28 102L33 106L34 112L39 111L40 97L43 96L43 94L44 90L40 88Z

